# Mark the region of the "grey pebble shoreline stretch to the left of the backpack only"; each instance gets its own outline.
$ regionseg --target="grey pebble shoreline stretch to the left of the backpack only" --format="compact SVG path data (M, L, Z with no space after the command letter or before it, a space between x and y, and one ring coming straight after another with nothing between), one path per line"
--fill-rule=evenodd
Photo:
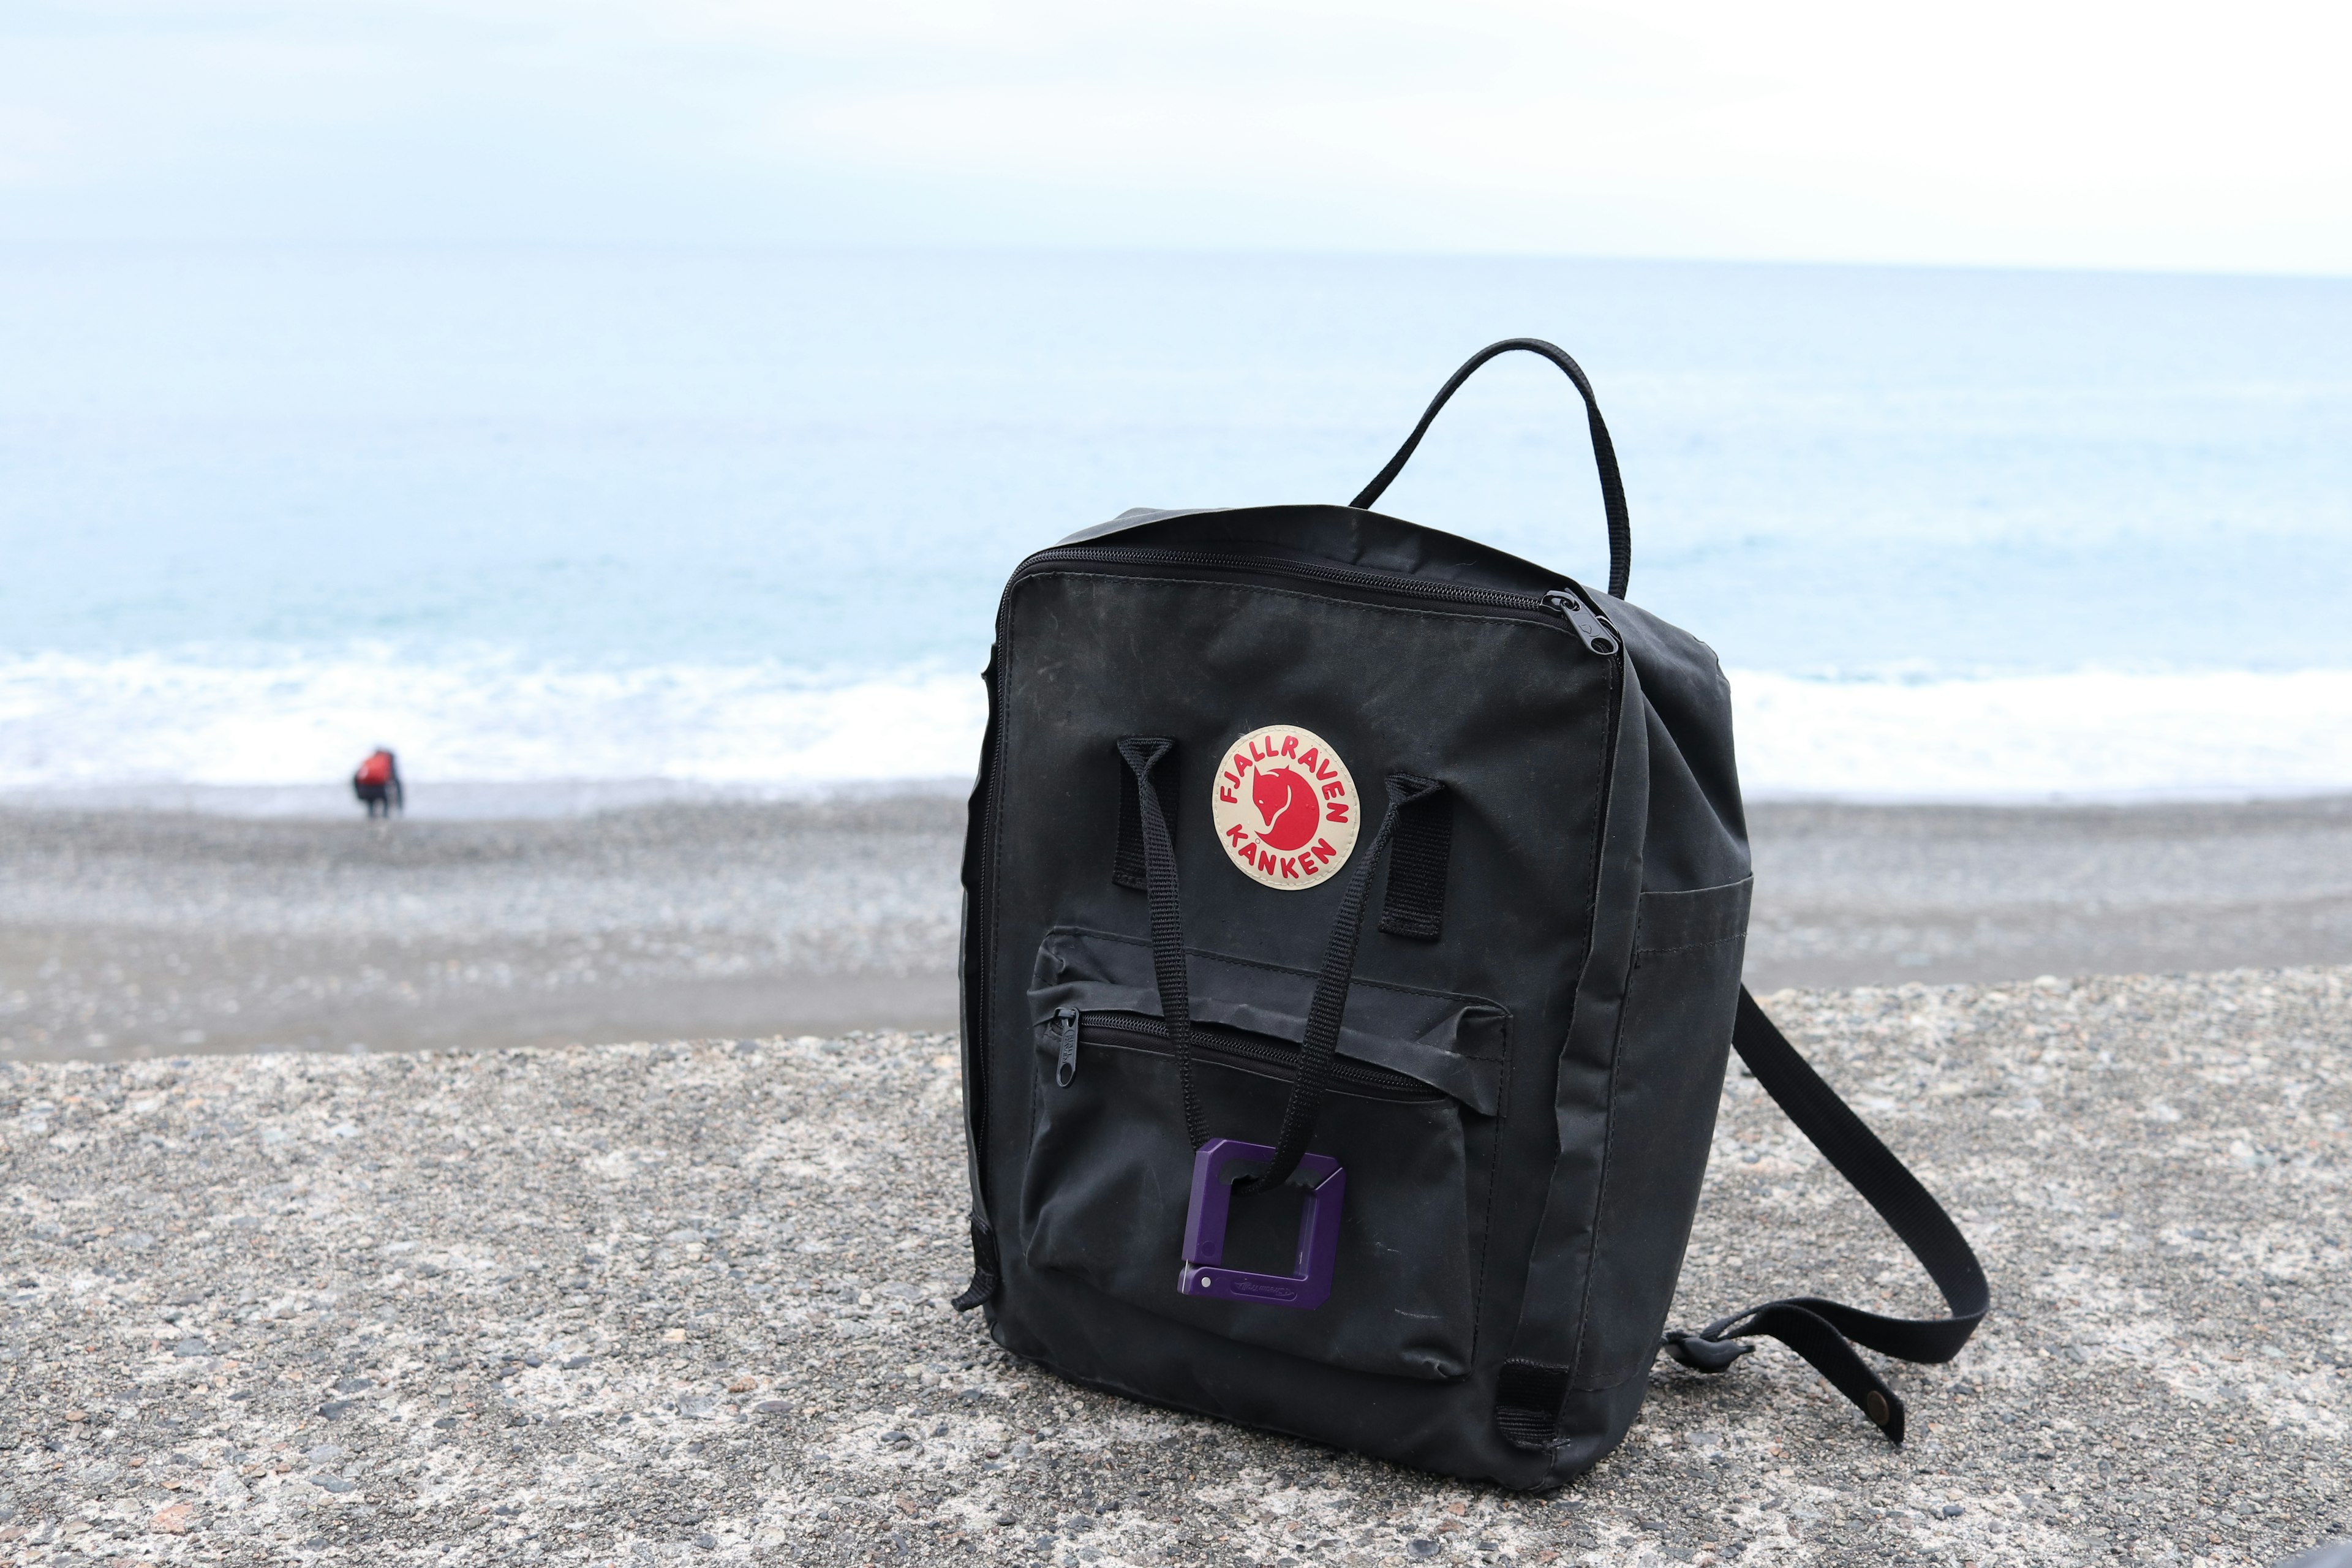
M953 1027L964 806L0 806L0 1058Z

